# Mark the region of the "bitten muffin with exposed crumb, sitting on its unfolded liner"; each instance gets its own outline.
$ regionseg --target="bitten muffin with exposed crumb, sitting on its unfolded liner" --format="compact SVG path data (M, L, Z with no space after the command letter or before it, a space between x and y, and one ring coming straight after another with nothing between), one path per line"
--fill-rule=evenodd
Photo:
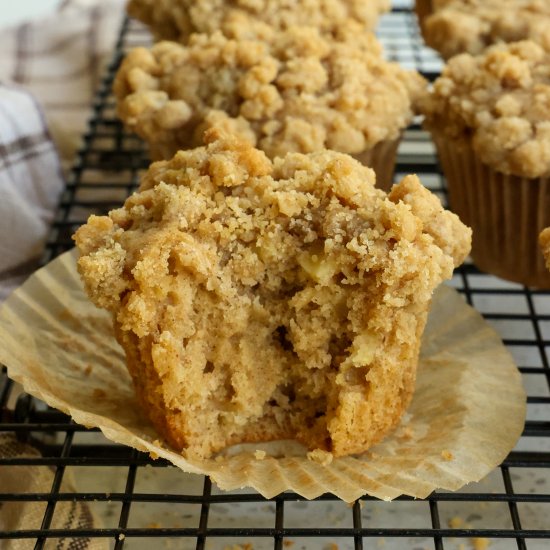
M386 195L344 154L206 139L75 235L143 410L188 458L273 439L360 453L411 399L432 291L470 231L415 176Z

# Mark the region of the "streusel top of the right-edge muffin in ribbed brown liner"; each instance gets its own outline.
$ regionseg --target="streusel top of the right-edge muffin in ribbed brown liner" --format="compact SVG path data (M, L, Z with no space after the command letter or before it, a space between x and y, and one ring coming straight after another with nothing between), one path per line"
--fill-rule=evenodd
M421 101L437 136L467 141L504 174L550 175L550 54L532 41L452 58Z

